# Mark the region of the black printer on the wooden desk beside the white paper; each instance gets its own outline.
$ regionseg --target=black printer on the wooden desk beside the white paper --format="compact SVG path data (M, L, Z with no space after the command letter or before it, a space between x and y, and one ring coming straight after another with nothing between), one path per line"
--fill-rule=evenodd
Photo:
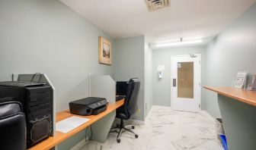
M71 114L82 116L100 114L107 109L106 98L88 97L69 102L69 111Z

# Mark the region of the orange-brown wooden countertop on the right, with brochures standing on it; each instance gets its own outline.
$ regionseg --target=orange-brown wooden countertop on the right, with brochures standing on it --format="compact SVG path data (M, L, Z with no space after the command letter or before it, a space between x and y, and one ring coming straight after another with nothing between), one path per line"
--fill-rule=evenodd
M256 106L256 91L249 91L246 89L238 89L235 87L216 87L216 86L203 86L220 95L225 95L229 98L234 98L240 102L247 103L248 105Z

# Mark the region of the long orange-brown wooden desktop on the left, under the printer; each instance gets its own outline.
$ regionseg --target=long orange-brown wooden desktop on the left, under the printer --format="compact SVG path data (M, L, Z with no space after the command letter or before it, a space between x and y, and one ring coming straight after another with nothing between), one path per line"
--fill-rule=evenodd
M34 145L33 147L29 148L29 150L47 150L47 149L53 148L53 146L58 145L60 142L64 141L65 139L68 139L70 136L73 136L75 133L78 133L79 131L90 126L92 123L106 116L107 114L110 114L110 112L116 110L121 105L123 105L123 102L124 100L120 100L118 102L108 104L107 110L103 111L101 114L98 114L98 115L79 116L75 114L70 114L69 109L66 111L60 111L59 113L56 114L56 122L59 122L60 120L64 120L72 116L85 117L90 120L88 120L86 123L83 123L81 126L75 128L74 130L71 130L69 133L61 133L59 131L56 131L55 136L50 136L48 139L45 139L42 142L39 142L37 145Z

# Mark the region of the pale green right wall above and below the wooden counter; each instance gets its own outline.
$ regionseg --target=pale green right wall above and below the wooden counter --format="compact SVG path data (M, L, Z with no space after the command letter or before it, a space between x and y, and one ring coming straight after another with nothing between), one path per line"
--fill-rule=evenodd
M255 73L256 4L222 31L206 50L206 85L231 86L238 71ZM220 117L217 95L206 92L206 111Z

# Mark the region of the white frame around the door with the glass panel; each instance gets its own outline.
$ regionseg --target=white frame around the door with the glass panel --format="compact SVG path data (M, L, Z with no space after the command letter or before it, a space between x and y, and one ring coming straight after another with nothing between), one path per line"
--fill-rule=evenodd
M198 79L198 80L199 80L199 85L198 85L198 86L199 86L199 90L198 90L198 95L199 95L198 98L199 98L199 100L198 100L198 102L199 102L199 111L201 111L201 104L202 104L202 102L201 102L201 97L202 97L202 95L201 95L201 90L202 90L202 89L201 89L201 88L202 88L202 87L201 87L201 83L202 83L202 79L201 79L201 72L202 72L202 71L201 71L201 70L202 70L202 67L201 67L201 66L202 66L202 65L201 65L201 54L171 55L171 71L170 71L170 72L171 72L171 73L170 73L170 77L171 77L171 82L170 82L170 83L171 83L171 86L170 86L170 87L171 87L171 89L170 89L170 92L171 92L171 99L170 99L170 101L171 101L171 109L172 109L172 110L174 110L174 109L173 109L174 98L173 98L173 94L172 94L172 93L173 93L173 90L172 90L172 89L173 89L173 86L172 86L172 85L173 85L173 80L172 80L172 79L173 79L172 64L173 64L173 61L174 61L173 58L177 58L177 57L187 57L187 56L191 57L191 55L197 55L197 57L199 58L199 72L200 72L200 73L198 74L198 76L199 76L199 77L198 77L198 78L199 78L199 79ZM176 82L176 84L177 84L177 82Z

